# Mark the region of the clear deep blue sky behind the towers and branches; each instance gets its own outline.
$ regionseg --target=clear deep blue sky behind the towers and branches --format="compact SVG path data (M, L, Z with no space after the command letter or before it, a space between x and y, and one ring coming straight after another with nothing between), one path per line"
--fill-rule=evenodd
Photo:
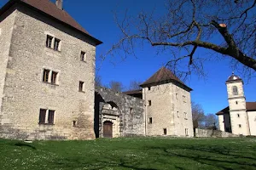
M8 0L1 0L0 6L7 2ZM99 58L120 35L113 20L113 11L124 14L125 9L128 9L129 14L136 15L142 9L147 12L154 8L160 14L165 2L164 0L64 0L64 9L92 36L103 42L96 48L97 74L102 77L103 83L107 84L115 80L123 82L127 87L131 80L143 82L171 59L169 54L156 54L155 48L150 46L137 48L137 58L134 56L125 60L119 59L119 56L114 58L109 56L105 60ZM206 53L207 51L200 50L196 55L206 55ZM193 88L191 97L195 103L201 104L206 113L216 113L228 105L225 81L233 71L230 59L209 60L205 62L204 68L207 77L202 79L192 74L186 84ZM237 71L235 73L240 76ZM256 77L253 77L244 85L247 101L256 101L255 84Z

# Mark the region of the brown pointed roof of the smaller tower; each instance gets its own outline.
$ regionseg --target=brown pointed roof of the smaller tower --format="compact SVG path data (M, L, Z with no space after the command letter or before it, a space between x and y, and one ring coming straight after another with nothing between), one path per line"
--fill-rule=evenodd
M172 71L170 71L166 67L162 67L160 68L159 71L156 71L152 77L149 77L146 82L143 82L143 84L141 84L141 87L147 87L147 85L157 84L157 83L163 84L166 82L176 82L177 85L182 86L182 88L186 88L188 91L192 90L191 88L186 86L184 82L182 82L179 78L177 78L172 73Z

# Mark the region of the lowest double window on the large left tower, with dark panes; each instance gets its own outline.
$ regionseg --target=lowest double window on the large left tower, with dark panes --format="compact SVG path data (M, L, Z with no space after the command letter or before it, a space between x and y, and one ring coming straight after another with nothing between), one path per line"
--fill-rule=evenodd
M47 122L45 122L47 120ZM39 124L53 125L55 120L55 111L40 109L39 112Z

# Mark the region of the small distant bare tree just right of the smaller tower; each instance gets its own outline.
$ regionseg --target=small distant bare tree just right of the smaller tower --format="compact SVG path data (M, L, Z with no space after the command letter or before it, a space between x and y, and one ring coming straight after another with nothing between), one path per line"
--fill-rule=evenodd
M194 130L195 128L202 127L205 120L205 112L201 105L195 104L195 102L192 102L192 120Z

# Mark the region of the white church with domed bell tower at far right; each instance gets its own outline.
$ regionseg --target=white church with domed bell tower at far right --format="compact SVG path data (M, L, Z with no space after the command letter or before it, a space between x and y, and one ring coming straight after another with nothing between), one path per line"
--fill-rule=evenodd
M256 102L247 102L243 91L243 81L234 73L226 81L229 106L218 111L221 131L256 135Z

